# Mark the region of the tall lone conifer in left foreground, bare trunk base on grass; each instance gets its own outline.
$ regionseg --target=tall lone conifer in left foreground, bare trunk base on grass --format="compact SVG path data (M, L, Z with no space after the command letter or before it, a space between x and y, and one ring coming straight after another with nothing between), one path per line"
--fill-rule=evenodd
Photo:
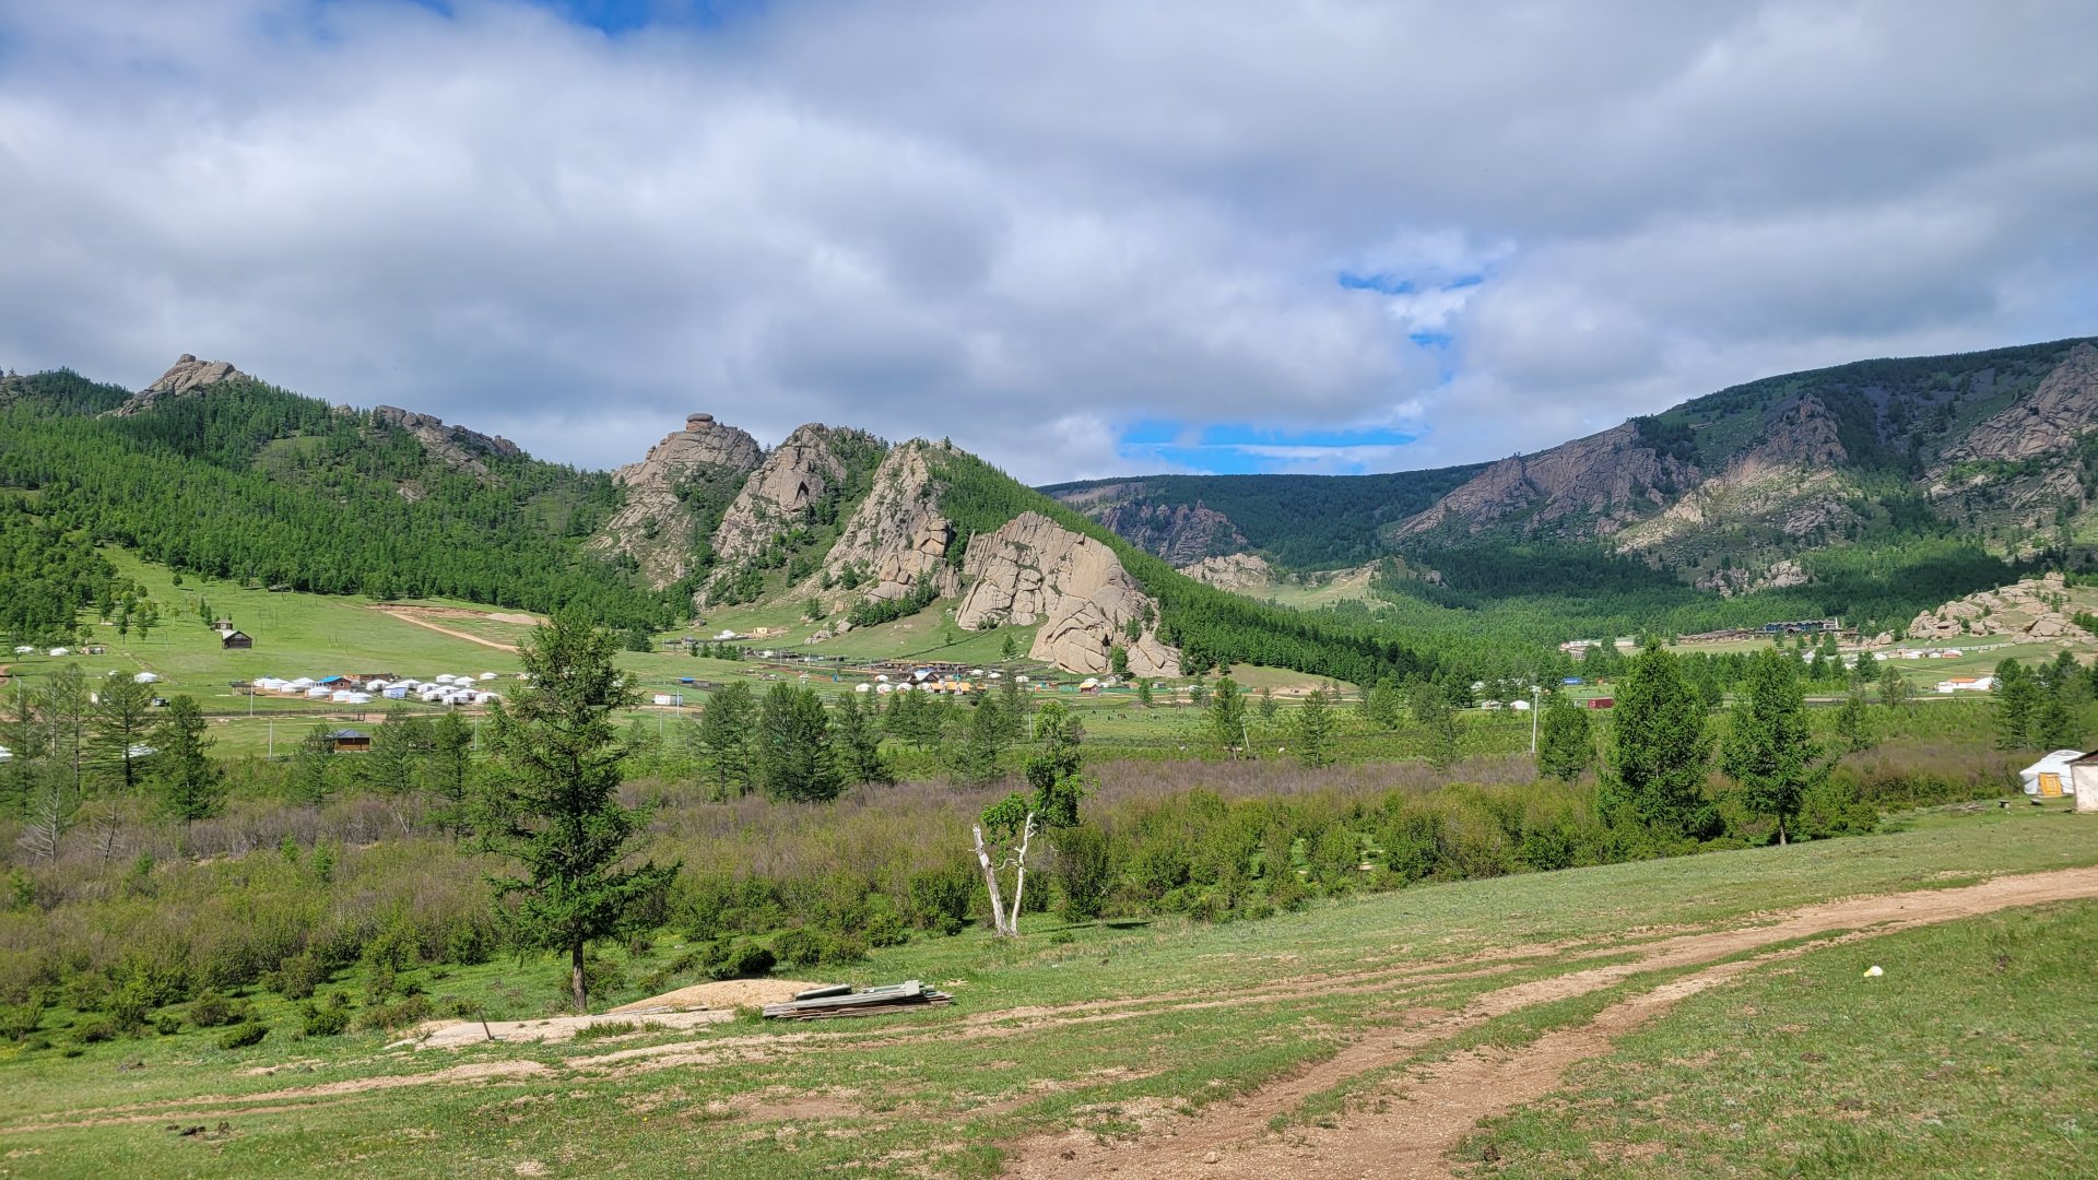
M527 682L495 705L497 773L480 796L480 848L516 865L493 878L524 947L569 953L575 1010L587 1010L590 943L646 922L678 865L621 867L646 813L619 804L617 710L636 703L613 632L562 611L518 647ZM822 708L820 703L816 705Z

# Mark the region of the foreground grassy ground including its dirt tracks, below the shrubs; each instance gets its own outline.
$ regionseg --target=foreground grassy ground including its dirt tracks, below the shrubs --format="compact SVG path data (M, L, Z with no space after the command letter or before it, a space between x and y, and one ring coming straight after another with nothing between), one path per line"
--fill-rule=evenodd
M2098 1121L2094 949L2092 817L1941 813L1267 922L1043 918L1020 943L917 941L856 981L919 976L959 1004L864 1023L42 1054L0 1062L0 1176L1725 1176L1785 1159L2064 1176Z

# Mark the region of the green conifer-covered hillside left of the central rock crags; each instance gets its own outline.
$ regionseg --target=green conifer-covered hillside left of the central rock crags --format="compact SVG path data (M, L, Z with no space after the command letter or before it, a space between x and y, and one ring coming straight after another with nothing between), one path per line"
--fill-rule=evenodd
M413 430L237 378L208 397L101 416L126 391L17 378L0 407L0 487L36 512L174 569L325 594L457 596L621 626L667 626L667 594L581 542L619 506L611 477L478 456L455 470Z

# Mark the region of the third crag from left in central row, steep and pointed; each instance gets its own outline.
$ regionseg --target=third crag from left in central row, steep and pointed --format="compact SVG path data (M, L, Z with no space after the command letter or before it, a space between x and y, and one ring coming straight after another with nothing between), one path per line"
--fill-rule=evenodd
M932 577L942 596L959 592L961 580L946 563L955 523L940 512L932 468L938 449L940 443L913 439L881 460L866 500L845 521L822 571L797 588L797 596L818 594L822 580L843 586L841 600L906 598L919 577Z

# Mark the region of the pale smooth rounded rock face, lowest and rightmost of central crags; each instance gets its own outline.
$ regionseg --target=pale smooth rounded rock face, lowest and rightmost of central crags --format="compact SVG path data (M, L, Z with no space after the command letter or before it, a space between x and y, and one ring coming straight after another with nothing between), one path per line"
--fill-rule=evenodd
M1127 647L1133 676L1179 674L1179 653L1158 640L1158 605L1114 550L1041 512L1022 512L988 538L971 540L963 580L969 592L955 609L955 624L980 630L1039 621L1030 659L1101 674L1114 666L1114 647Z

